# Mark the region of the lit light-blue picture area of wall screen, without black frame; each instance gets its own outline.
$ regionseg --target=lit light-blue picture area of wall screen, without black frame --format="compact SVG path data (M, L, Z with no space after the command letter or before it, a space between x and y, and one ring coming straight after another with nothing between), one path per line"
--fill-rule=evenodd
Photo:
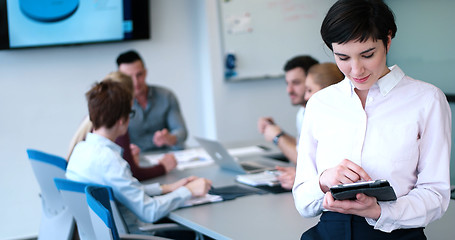
M124 39L123 0L7 0L11 48Z

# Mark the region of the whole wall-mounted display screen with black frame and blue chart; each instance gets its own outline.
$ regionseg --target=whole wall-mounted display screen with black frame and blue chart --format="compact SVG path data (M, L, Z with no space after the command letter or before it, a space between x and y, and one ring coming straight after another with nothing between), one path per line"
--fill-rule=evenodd
M0 49L150 38L149 0L0 0Z

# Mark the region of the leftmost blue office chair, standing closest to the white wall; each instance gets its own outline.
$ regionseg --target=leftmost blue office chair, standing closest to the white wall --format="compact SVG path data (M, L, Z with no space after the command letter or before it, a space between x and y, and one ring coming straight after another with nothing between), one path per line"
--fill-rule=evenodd
M71 239L73 215L54 184L54 178L65 178L66 160L33 149L27 149L27 154L41 190L42 214L38 239Z

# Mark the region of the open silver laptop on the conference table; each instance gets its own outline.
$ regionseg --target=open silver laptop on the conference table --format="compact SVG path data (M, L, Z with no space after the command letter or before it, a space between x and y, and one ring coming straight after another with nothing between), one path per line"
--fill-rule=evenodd
M222 169L234 171L239 174L257 173L275 169L276 164L270 162L267 158L248 157L251 161L237 161L218 141L200 137L195 137L195 139Z

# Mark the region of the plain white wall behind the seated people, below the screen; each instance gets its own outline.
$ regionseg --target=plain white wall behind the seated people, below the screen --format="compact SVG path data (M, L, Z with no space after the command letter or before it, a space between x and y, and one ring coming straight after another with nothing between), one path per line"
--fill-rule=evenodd
M122 51L138 50L148 82L177 94L190 137L260 139L262 115L295 132L283 80L223 80L216 1L151 0L151 15L148 41L0 51L0 239L37 235L39 187L25 150L67 154L87 112L84 93Z

